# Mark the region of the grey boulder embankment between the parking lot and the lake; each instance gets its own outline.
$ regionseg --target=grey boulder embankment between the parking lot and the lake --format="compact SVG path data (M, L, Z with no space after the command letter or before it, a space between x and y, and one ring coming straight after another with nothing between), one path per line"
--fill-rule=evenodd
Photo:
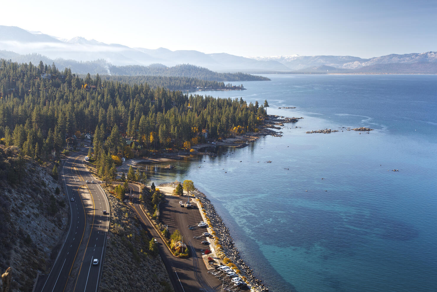
M163 183L160 184L160 186L176 187L177 182ZM246 280L251 283L251 288L253 288L254 291L268 291L268 288L262 284L263 281L259 278L256 278L252 274L253 269L250 269L250 267L247 266L243 259L241 259L239 256L239 251L234 244L232 236L229 234L229 229L226 227L225 223L223 223L222 217L220 217L220 215L217 214L217 211L215 211L211 201L209 201L206 195L200 192L198 189L195 189L192 194L194 194L194 196L203 204L203 208L205 209L205 212L211 222L211 225L215 231L215 235L220 240L220 245L222 246L222 250L226 257L228 257L232 263L236 264L238 269L241 271L240 274L246 277Z

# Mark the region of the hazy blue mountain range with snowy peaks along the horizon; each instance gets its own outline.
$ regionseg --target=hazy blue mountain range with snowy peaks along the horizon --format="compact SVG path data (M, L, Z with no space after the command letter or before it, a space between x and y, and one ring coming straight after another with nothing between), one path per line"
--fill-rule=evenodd
M437 74L437 52L391 54L370 59L354 56L298 55L249 58L227 53L205 54L195 50L130 48L121 44L87 40L79 36L67 40L42 32L26 31L16 26L0 26L0 50L1 58L12 60L15 59L8 56L37 53L51 60L62 60L64 63L66 60L76 60L82 64L97 62L101 65L104 62L116 66L193 64L219 72ZM105 66L104 64L103 67Z

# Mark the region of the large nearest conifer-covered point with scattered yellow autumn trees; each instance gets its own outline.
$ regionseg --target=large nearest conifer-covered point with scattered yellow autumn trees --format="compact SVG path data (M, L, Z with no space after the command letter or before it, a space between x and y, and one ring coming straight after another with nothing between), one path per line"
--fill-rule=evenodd
M258 102L188 95L148 84L80 78L55 64L0 60L0 137L35 159L59 153L85 133L94 135L100 174L120 157L163 148L189 149L202 137L255 130L266 116ZM127 142L128 141L128 142ZM135 141L135 143L132 143Z

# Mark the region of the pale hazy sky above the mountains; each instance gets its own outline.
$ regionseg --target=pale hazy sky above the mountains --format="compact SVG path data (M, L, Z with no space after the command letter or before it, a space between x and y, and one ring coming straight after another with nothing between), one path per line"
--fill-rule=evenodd
M66 39L238 56L437 51L437 1L18 0L0 25Z

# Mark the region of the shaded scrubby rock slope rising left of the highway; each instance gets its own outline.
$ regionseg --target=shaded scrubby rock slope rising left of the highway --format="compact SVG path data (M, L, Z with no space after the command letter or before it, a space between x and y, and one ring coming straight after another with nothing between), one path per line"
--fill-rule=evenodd
M3 274L0 292L31 291L56 257L69 209L54 165L21 157L14 147L0 149L0 271L9 279Z

